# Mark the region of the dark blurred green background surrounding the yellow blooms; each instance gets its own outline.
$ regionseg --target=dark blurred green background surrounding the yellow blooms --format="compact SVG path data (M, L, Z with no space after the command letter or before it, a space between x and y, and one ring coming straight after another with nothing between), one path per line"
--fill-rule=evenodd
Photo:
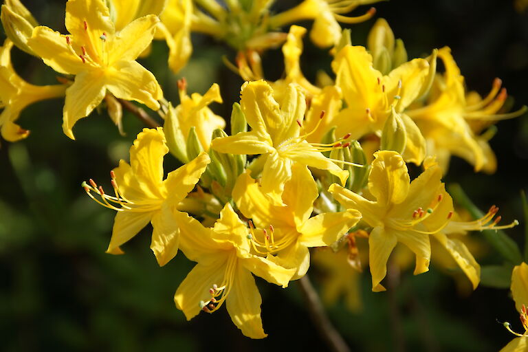
M278 2L277 8L295 3ZM41 24L65 32L63 1L24 3ZM512 1L393 0L375 7L376 17L387 19L395 36L404 40L410 58L449 45L470 89L486 94L498 76L515 97L515 109L528 102L528 15L516 12ZM365 44L374 21L351 27L354 44ZM175 103L177 78L187 78L189 93L203 94L212 83L219 83L224 103L212 108L227 118L243 82L223 66L221 56L232 59L234 52L206 36L193 34L192 39L192 61L178 75L168 72L162 42L154 43L151 56L140 62ZM54 72L38 59L17 49L12 55L14 67L25 79L54 83ZM280 50L267 52L263 60L267 78L279 78L283 71ZM305 41L302 66L308 78L313 80L318 69L330 73L330 61L327 51ZM54 100L25 109L19 122L32 134L15 144L2 141L0 148L3 351L326 348L311 325L296 283L281 289L257 278L264 328L270 336L250 340L236 329L225 309L186 322L174 307L173 294L192 263L179 254L166 267L157 267L148 249L150 228L124 246L126 255L104 254L114 213L91 201L80 183L92 177L109 184L109 170L120 158L128 159L129 146L143 126L126 114L126 136L122 137L107 113L94 112L76 124L74 142L62 133L62 106L62 100ZM526 116L500 122L491 144L498 155L495 175L474 174L470 165L455 158L445 181L460 183L481 208L496 204L505 221L522 220L520 190L527 188L522 173L528 158ZM166 170L172 170L175 162L166 159ZM523 230L521 223L508 231L521 246ZM483 241L478 234L472 236ZM501 263L493 250L479 261ZM322 272L310 273L319 287ZM393 294L372 293L370 280L367 270L360 283L363 308L359 313L352 314L342 303L329 307L331 320L355 351L391 351L398 339L410 351L498 351L513 336L496 319L520 327L509 290L478 287L469 294L458 289L451 276L439 272L434 259L426 274L402 273ZM391 307L399 311L399 333L392 323Z

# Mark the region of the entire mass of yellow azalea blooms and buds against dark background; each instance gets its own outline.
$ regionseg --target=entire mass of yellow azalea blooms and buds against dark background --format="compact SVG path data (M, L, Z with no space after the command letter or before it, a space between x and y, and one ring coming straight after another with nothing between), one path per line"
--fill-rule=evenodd
M316 252L316 262L320 257L327 267L333 260L325 256L340 260L348 251L349 271L335 278L351 294L352 279L343 275L353 277L365 262L356 238L368 239L374 292L385 290L398 243L414 254L414 274L429 270L435 245L443 248L475 289L480 266L463 235L511 228L517 221L499 225L495 206L464 221L442 177L451 155L476 172L493 173L493 124L526 108L506 111L498 78L484 98L466 91L449 47L408 58L384 19L373 26L367 47L351 45L339 23L366 21L375 11L344 14L375 2L304 0L274 14L270 0L69 0L68 34L61 34L39 26L18 0L5 1L1 134L12 142L28 137L14 122L25 106L46 98L65 96L63 131L72 139L74 124L103 100L118 125L127 100L157 111L163 126L137 134L130 162L121 160L110 173L113 191L92 179L83 188L117 212L108 253L122 254L122 246L151 223L151 250L160 266L180 251L197 263L174 298L187 319L225 303L245 336L264 338L253 276L287 287L307 274L310 248L327 248ZM306 19L314 20L311 41L331 48L333 76L316 83L300 69L307 30L292 25L281 32ZM246 82L233 105L229 135L224 118L209 108L223 102L219 85L189 96L180 80L179 104L173 105L136 61L149 54L153 39L163 39L168 65L177 72L192 52L191 32L210 34L238 51L227 65ZM20 78L10 63L13 45L63 74L61 84L38 87ZM281 45L285 74L267 80L261 53ZM181 166L166 173L165 155ZM421 167L412 180L410 163ZM334 287L333 296L340 289ZM526 318L524 307L522 312Z

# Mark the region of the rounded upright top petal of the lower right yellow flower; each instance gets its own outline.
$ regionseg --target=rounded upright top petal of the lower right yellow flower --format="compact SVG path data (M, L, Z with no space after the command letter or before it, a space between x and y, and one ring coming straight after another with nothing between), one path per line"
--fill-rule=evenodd
M395 151L378 151L374 157L369 190L379 203L401 203L409 191L409 173L404 159Z

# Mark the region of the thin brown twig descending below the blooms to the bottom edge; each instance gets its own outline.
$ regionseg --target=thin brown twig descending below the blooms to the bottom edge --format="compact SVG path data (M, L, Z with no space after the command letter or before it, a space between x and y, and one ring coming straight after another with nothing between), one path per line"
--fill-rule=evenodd
M303 292L303 296L308 302L308 310L310 312L311 320L313 320L314 325L316 325L322 338L327 341L332 351L349 352L350 349L347 346L347 343L344 342L336 328L333 327L325 308L322 307L319 295L317 294L316 289L314 289L314 286L311 285L308 275L303 276L297 282L300 287L300 292Z

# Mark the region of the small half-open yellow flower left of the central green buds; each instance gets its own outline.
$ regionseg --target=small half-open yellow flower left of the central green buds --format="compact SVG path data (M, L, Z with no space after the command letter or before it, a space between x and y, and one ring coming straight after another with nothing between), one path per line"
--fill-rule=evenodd
M175 107L175 115L181 134L187 140L189 130L194 126L203 150L208 151L212 131L225 127L225 120L208 107L212 102L222 102L220 87L214 83L203 96L198 93L188 96L186 88L186 81L180 80L178 83L180 103Z

